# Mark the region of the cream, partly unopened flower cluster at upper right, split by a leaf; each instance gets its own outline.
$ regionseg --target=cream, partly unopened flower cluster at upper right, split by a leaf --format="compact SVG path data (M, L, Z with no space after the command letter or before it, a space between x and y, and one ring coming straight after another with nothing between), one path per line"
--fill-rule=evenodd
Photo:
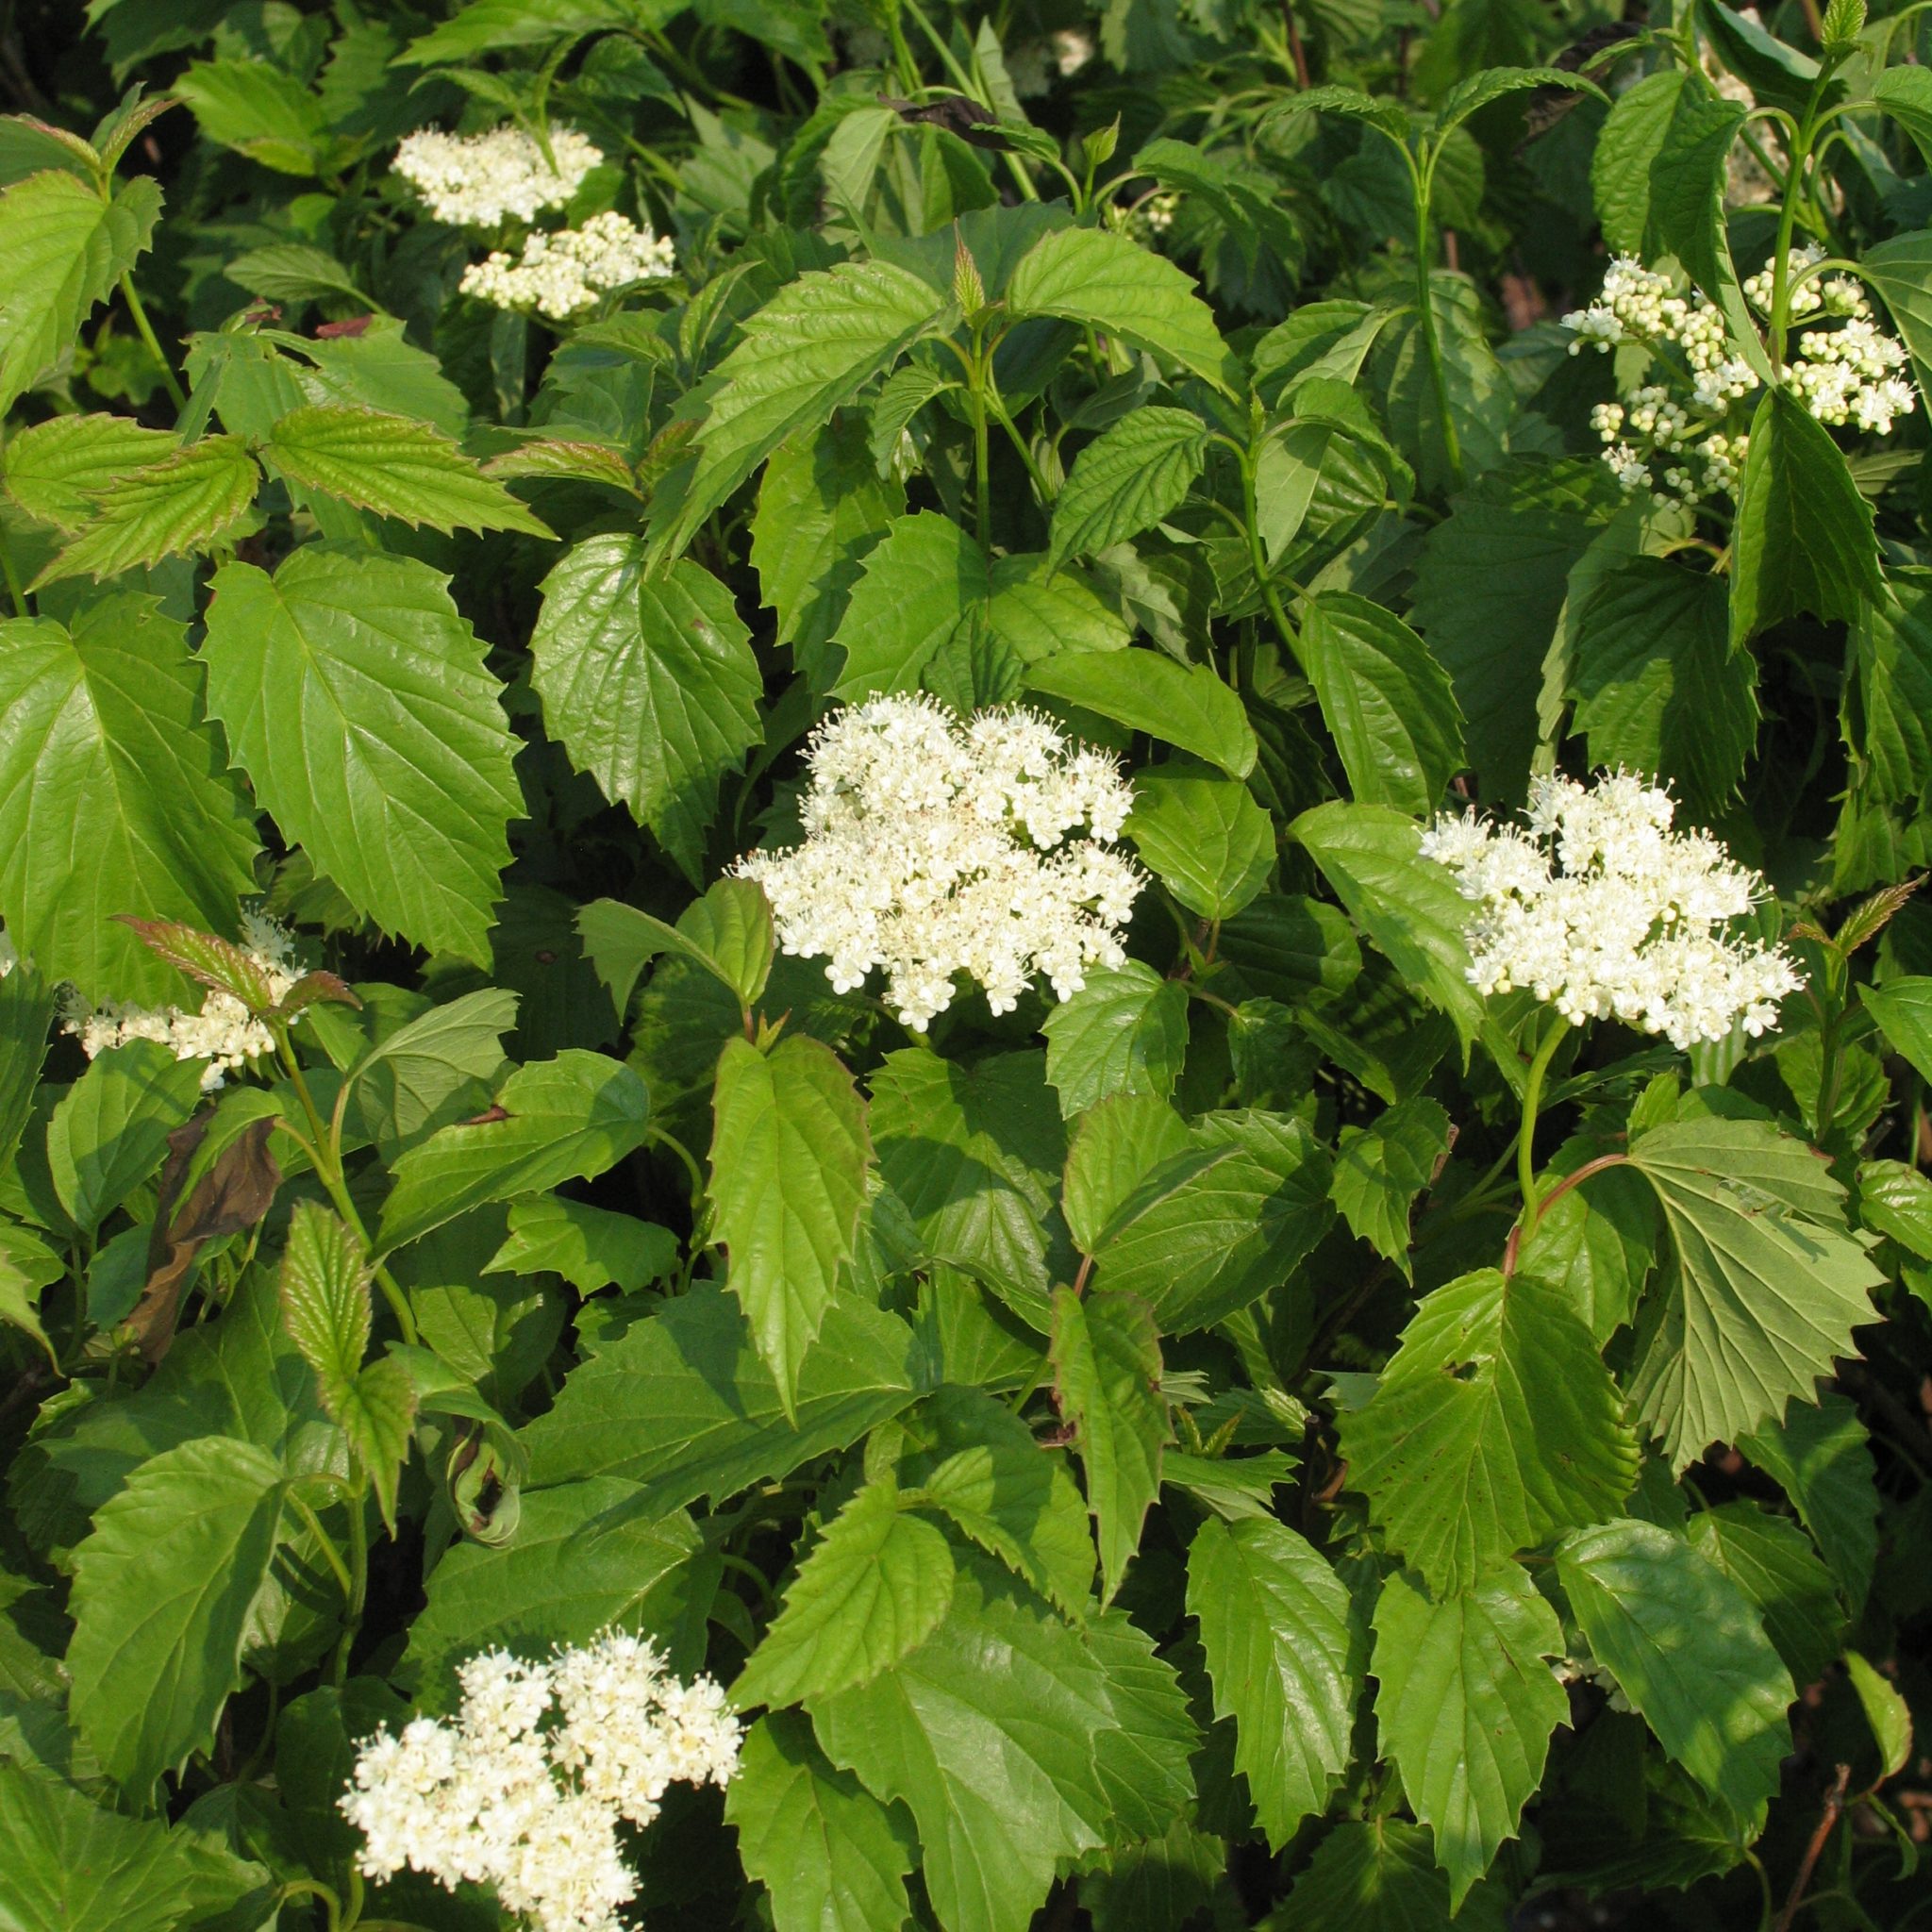
M1816 247L1793 249L1789 276L1824 259ZM1745 296L1770 307L1774 263L1745 280ZM1889 435L1917 406L1903 375L1905 350L1878 330L1872 305L1849 276L1804 282L1793 290L1791 315L1830 317L1837 328L1808 328L1785 383L1820 423L1853 423ZM1689 394L1665 383L1633 388L1623 402L1598 404L1590 423L1604 439L1604 462L1627 491L1648 489L1658 502L1702 502L1737 485L1750 439L1729 425L1731 404L1758 388L1758 373L1731 354L1721 311L1700 294L1679 296L1671 278L1619 255L1588 309L1563 317L1575 336L1571 355L1586 346L1607 354L1631 342L1654 352L1658 367L1689 377Z

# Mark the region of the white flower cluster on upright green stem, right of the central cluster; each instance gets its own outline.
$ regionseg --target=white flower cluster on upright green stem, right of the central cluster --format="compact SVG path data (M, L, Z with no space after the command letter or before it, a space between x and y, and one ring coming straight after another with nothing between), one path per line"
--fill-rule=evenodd
M1673 1047L1756 1037L1804 981L1779 947L1725 931L1764 881L1708 833L1673 833L1669 792L1631 773L1530 781L1528 827L1443 815L1422 856L1474 900L1470 983L1530 987L1565 1020L1617 1018Z

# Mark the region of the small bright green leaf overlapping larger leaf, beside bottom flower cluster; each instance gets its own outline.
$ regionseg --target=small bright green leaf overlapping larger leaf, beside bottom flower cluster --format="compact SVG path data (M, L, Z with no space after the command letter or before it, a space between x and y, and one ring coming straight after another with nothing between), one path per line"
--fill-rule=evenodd
M945 1536L908 1511L896 1484L867 1482L800 1563L732 1702L817 1706L871 1683L925 1642L951 1602Z

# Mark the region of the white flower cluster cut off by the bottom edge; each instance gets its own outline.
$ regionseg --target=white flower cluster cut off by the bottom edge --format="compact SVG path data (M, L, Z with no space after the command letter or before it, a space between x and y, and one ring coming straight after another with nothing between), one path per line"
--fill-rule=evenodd
M413 1718L355 1758L342 1814L363 1833L363 1874L493 1886L541 1932L618 1932L638 1891L620 1826L647 1826L672 1781L724 1785L738 1770L723 1687L680 1683L622 1631L549 1663L491 1650L456 1677L454 1721Z

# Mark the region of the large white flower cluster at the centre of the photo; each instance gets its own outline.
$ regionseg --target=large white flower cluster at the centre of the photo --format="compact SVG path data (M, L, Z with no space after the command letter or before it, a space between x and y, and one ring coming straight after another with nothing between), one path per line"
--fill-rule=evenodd
M840 993L883 966L885 997L923 1032L954 974L1010 1012L1036 972L1068 999L1088 966L1122 964L1144 875L1113 850L1134 794L1105 753L1034 711L960 726L895 696L819 726L810 765L806 842L734 871L765 889L786 952L829 956Z

